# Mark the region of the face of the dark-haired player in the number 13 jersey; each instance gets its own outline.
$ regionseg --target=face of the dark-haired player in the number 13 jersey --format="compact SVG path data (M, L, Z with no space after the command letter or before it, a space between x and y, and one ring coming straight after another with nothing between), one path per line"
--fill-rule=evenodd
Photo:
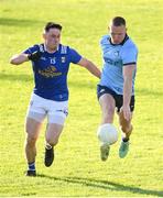
M61 41L61 31L58 29L50 29L44 34L46 47L50 50L56 50Z

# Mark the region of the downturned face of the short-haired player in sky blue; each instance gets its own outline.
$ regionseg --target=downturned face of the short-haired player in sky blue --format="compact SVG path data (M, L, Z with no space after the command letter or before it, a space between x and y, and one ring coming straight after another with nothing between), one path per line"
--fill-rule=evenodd
M110 36L113 44L120 44L126 37L127 29L124 25L110 25Z

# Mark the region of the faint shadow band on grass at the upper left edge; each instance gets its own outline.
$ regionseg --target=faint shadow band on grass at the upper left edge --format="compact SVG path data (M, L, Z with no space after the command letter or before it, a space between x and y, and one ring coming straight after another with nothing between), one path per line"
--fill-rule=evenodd
M43 21L37 21L37 20L0 18L0 25L2 26L24 28L24 26L43 24L43 23L44 23Z

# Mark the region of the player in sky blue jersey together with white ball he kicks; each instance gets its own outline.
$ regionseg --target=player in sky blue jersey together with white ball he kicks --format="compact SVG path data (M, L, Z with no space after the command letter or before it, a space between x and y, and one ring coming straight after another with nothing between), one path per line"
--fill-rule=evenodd
M98 129L102 161L108 158L110 145L118 141L118 131L113 125L115 111L122 132L119 157L123 158L128 154L129 138L132 132L138 58L138 48L127 34L123 18L115 16L110 21L108 31L109 34L102 36L100 41L104 65L101 79L97 86L97 96L102 111L101 125Z

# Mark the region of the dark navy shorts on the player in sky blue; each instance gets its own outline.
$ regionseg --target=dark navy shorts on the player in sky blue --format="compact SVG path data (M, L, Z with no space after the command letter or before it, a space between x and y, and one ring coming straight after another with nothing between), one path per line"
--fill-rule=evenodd
M111 95L113 97L115 102L116 102L117 112L119 112L120 108L122 107L122 103L123 103L123 96L122 95L117 95L113 90L109 89L108 87L98 85L97 86L98 100L105 94L109 94L109 95ZM134 96L131 96L130 110L131 111L134 110Z

